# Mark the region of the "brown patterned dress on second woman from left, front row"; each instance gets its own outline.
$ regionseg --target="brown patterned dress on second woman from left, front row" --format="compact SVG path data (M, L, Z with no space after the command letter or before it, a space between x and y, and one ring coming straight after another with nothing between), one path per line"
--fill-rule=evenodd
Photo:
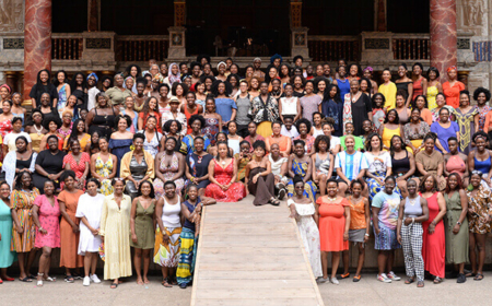
M15 226L12 227L11 250L28 252L34 247L35 225L31 210L33 209L34 200L38 196L39 190L36 187L31 191L15 189L12 192L11 209L17 213L19 223L24 232L19 234Z

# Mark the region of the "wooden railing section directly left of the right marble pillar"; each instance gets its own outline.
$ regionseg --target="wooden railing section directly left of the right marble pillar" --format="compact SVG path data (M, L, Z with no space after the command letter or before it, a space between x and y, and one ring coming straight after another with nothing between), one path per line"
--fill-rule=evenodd
M393 38L395 60L426 60L431 58L431 39L429 35L401 34Z

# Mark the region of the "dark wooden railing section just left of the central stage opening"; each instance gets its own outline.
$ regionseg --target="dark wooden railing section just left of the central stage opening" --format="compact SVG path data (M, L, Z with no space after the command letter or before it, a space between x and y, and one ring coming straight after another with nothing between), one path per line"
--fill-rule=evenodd
M167 57L169 36L117 36L117 61L164 61Z

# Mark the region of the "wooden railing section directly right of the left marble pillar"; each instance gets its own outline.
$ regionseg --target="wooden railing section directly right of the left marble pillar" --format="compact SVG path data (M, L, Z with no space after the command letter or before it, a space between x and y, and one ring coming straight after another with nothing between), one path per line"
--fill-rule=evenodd
M51 35L51 59L79 60L82 57L82 35L69 33Z

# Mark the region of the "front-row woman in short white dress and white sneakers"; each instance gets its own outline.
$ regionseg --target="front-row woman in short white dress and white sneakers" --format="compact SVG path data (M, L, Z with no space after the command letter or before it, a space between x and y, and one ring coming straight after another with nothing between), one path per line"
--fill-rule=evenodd
M101 283L95 273L97 267L97 251L101 246L99 225L103 210L104 196L97 193L101 183L96 178L90 178L85 185L86 193L79 198L75 216L80 217L80 238L78 254L84 256L84 286L91 282Z

